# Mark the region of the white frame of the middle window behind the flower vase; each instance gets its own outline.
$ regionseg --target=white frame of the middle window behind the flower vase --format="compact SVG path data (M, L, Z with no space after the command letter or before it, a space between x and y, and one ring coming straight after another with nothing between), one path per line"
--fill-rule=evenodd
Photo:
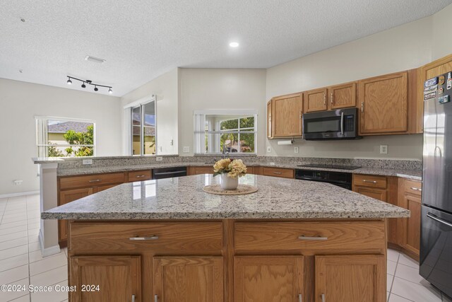
M227 130L216 130L216 131L208 131L206 130L206 116L207 115L231 115L237 116L242 115L242 117L237 117L237 127L238 129L227 129ZM240 131L240 119L243 117L254 116L254 131ZM234 120L225 119L225 120ZM225 120L220 120L218 122L218 128L220 128L221 122ZM254 152L233 152L234 154L246 156L246 155L256 155L258 153L258 112L257 110L194 110L194 154L196 155L218 155L222 152L206 152L206 135L208 134L238 134L237 138L240 134L254 134ZM249 127L245 128L249 129ZM203 147L201 144L203 143ZM213 144L217 144L217 142L212 142ZM221 150L221 143L219 142L219 150ZM240 146L240 143L239 143ZM231 152L232 153L232 152Z

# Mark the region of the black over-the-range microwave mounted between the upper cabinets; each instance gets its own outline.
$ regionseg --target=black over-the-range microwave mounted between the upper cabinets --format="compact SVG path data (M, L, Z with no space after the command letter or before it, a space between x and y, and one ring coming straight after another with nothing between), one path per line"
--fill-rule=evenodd
M357 117L357 108L304 113L303 138L307 141L360 139Z

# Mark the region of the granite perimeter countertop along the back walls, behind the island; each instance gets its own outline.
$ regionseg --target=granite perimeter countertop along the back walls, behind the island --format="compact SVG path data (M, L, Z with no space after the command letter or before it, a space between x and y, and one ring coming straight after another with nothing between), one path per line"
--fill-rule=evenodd
M245 161L246 163L246 161ZM299 167L296 163L290 164L268 164L268 163L246 163L246 165L273 167L273 168L290 168L290 169L303 169L303 170L328 170L337 172L357 173L357 174L369 174L369 175L385 175L385 176L397 176L400 178L409 178L412 180L422 180L421 170L399 170L399 169L384 169L384 168L359 168L356 170L342 170L342 169L328 169L328 168L311 168L311 167ZM102 167L90 167L90 168L70 168L59 169L58 176L70 176L70 175L84 175L95 173L113 173L119 171L131 171L131 170L147 170L154 168L170 168L181 166L213 166L213 163L206 162L186 162L186 163L153 163L148 165L112 165Z

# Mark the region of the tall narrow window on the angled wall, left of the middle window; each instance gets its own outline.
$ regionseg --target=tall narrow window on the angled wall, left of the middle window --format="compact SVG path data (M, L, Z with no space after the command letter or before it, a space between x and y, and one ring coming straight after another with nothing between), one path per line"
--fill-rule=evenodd
M131 108L132 155L155 155L157 150L155 99Z

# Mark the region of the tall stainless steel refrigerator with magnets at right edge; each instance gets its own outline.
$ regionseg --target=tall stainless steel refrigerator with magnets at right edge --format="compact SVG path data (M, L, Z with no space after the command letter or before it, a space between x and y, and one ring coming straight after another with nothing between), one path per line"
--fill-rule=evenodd
M420 274L452 296L452 72L424 83Z

